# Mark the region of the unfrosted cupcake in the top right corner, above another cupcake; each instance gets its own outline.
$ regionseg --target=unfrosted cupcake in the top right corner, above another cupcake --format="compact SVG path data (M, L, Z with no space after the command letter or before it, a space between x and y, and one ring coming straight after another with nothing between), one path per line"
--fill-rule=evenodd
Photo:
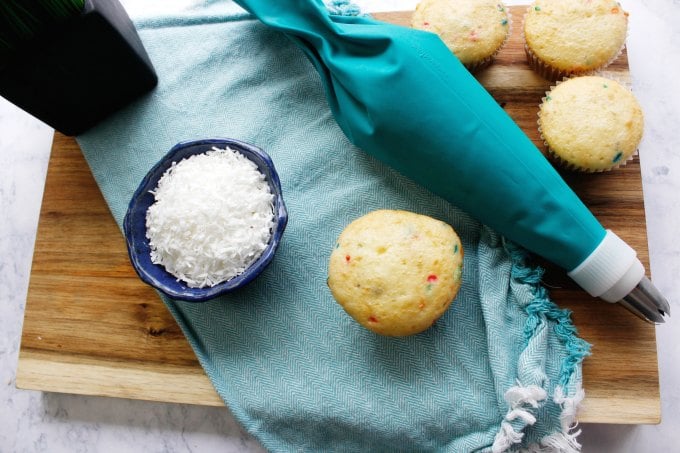
M613 0L536 0L524 18L531 67L560 80L609 65L623 49L628 13Z

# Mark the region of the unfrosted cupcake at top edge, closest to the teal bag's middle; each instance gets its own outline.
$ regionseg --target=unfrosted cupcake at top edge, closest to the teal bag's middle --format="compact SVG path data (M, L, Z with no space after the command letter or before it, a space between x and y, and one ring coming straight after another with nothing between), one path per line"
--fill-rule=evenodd
M508 11L497 0L423 0L411 26L439 35L470 71L491 64L507 40Z

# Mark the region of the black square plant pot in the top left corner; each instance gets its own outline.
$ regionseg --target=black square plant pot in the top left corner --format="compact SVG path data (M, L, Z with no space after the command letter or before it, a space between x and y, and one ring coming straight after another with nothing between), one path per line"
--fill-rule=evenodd
M40 33L0 62L0 96L66 135L78 135L158 83L117 0Z

